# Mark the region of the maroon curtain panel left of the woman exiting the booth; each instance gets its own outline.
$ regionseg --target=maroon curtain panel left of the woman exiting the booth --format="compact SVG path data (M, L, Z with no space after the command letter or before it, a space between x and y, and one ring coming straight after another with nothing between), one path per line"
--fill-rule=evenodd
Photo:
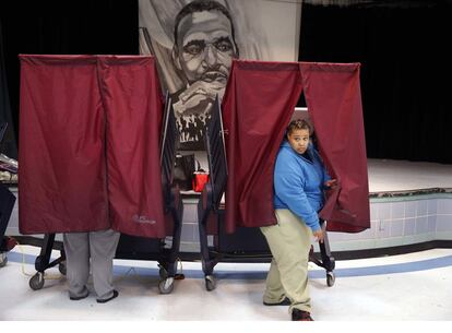
M226 231L276 223L273 169L301 93L298 63L235 60L223 98Z

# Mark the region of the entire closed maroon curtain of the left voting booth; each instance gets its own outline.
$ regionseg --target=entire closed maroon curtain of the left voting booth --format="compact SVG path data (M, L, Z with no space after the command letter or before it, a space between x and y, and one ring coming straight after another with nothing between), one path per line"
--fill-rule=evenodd
M165 237L154 59L20 58L21 233Z

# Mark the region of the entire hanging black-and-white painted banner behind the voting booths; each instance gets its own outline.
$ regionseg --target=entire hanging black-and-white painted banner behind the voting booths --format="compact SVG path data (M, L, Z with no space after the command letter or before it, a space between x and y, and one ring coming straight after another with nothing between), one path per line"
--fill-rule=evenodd
M140 52L155 56L181 150L202 150L210 109L234 58L296 61L301 4L271 0L140 0Z

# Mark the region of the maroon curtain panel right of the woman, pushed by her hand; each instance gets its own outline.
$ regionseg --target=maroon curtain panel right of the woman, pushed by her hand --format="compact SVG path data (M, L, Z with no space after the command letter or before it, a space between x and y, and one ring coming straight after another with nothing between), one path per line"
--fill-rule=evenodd
M338 187L320 216L331 231L370 228L369 186L359 63L300 63L319 150Z

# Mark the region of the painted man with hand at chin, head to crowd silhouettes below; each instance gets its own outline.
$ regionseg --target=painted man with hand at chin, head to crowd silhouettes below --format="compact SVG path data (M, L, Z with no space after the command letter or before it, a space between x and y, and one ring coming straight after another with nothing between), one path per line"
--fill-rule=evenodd
M212 104L216 95L223 97L233 58L239 55L233 19L216 1L190 2L176 16L174 40L173 61L186 79L171 96L180 141L202 146Z

